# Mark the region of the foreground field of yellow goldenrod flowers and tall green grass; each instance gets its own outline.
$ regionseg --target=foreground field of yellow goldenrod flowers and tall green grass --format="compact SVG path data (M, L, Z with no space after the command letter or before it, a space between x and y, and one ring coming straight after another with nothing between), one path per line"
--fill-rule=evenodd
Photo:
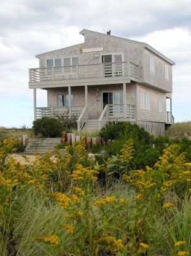
M190 255L190 144L139 169L136 142L120 144L95 162L82 140L21 165L17 139L0 142L0 255Z

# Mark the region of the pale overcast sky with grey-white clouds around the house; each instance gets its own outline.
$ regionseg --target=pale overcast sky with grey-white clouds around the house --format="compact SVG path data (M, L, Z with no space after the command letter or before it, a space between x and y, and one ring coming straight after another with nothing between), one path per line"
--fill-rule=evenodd
M173 115L191 120L191 0L0 0L0 126L31 127L28 68L37 54L84 42L83 29L148 43L176 62ZM37 90L37 107L46 107Z

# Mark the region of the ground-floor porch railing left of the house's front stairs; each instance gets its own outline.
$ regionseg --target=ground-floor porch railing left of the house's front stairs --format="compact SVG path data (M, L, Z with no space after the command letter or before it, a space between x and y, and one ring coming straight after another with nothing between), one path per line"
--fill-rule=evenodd
M69 107L37 107L36 118L55 117L55 115L64 115L65 117L74 116L79 118L84 106L71 106L71 113Z

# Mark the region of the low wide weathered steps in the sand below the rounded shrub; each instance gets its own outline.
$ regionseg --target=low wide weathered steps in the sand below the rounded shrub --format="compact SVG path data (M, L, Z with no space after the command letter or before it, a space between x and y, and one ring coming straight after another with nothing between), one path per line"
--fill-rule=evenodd
M28 139L28 144L25 149L25 154L34 154L39 152L45 155L47 151L52 151L55 146L61 142L61 138L41 138L41 139Z

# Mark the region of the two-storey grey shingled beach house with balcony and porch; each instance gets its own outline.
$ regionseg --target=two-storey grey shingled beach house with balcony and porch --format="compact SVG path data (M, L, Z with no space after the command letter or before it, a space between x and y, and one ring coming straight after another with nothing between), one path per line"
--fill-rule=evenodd
M56 112L76 115L78 130L118 120L164 134L165 125L173 123L174 62L146 43L110 32L80 34L84 43L36 56L39 67L29 70L34 120ZM47 107L36 106L36 89L47 91Z

